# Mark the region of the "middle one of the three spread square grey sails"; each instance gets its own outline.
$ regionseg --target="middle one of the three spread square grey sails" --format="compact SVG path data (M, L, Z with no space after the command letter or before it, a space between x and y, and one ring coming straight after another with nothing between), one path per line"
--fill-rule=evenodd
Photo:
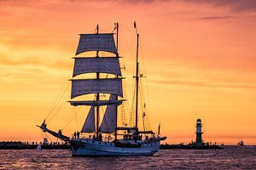
M73 77L92 72L109 73L117 76L121 75L118 57L83 57L75 58Z

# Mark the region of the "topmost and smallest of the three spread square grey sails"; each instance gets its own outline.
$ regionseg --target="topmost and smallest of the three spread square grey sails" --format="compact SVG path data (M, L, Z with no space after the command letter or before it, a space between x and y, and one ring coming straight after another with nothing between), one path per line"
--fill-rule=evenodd
M80 34L79 47L76 54L87 51L107 51L116 54L113 33Z

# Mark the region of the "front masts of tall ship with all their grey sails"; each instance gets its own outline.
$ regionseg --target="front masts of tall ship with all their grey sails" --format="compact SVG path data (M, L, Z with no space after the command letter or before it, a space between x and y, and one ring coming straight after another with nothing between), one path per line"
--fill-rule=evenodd
M118 96L123 97L121 71L119 65L118 54L118 23L115 25L117 31L116 47L113 40L113 33L99 33L99 26L96 26L96 34L80 34L79 47L77 54L88 51L96 51L96 57L75 57L75 65L72 79L72 99L84 94L96 94L96 100L72 100L71 105L90 105L96 107L96 127L93 127L94 110L90 110L82 133L96 133L96 138L99 138L99 133L114 133L115 139L117 136L117 110L118 105L122 104L122 100ZM100 51L115 54L112 57L103 57L99 55ZM76 55L77 55L76 54ZM83 61L84 59L84 61ZM86 61L87 60L87 61ZM79 74L96 73L96 79L76 79ZM107 74L106 78L101 78L100 74ZM115 75L115 78L108 78L108 74ZM100 94L110 94L108 100L101 100ZM108 105L102 124L100 126L99 108L102 105Z

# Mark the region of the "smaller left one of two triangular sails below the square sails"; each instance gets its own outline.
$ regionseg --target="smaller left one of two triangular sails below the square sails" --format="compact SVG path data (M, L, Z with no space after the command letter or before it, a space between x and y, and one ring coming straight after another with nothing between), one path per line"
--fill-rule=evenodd
M82 133L96 132L94 112L95 112L94 106L91 106L88 116L86 117L86 120L84 122L84 126L82 127L82 130L81 130Z

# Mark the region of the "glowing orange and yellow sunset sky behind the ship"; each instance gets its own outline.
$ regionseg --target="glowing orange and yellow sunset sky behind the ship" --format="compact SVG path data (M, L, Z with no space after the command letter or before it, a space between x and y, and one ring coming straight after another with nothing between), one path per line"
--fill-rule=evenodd
M0 140L42 139L35 125L70 83L78 34L92 33L96 24L112 31L119 21L119 53L129 80L136 54L134 20L152 127L161 122L167 142L188 143L195 140L201 117L205 141L256 144L253 0L0 0ZM126 93L131 98L130 88ZM79 129L84 112L78 113L79 125L72 123L64 133ZM72 114L73 107L64 103L49 127L65 127Z

